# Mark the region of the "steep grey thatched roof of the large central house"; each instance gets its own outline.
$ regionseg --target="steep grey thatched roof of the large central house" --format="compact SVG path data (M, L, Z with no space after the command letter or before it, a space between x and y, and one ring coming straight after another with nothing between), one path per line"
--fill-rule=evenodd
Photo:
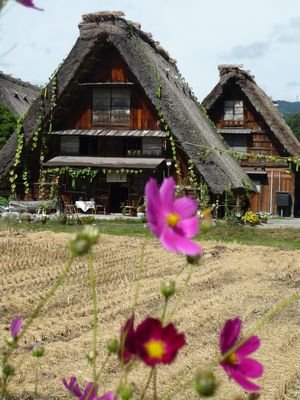
M152 104L161 107L177 144L194 161L212 192L220 193L226 187L242 188L248 177L229 155L214 153L200 160L200 146L225 148L224 143L202 113L191 89L180 76L175 61L159 43L141 31L139 24L122 18L119 12L100 12L83 18L84 21L79 25L80 37L57 72L56 113L59 113L60 102L63 99L66 101L64 96L67 93L78 93L78 82L84 81L87 69L91 70L93 63L99 62L101 47L113 45ZM51 87L51 82L49 85ZM157 97L159 86L160 99ZM24 120L26 142L34 131L39 109L37 103L33 104ZM50 99L46 102L46 116L49 109ZM12 166L16 149L16 141L13 140L0 152L0 177L7 174ZM3 152L6 154L5 160L2 159Z

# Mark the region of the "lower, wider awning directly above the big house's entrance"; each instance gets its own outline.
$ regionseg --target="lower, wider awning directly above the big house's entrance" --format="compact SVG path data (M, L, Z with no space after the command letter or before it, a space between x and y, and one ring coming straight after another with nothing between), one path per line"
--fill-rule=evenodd
M45 162L43 166L154 169L163 161L164 158L58 156Z

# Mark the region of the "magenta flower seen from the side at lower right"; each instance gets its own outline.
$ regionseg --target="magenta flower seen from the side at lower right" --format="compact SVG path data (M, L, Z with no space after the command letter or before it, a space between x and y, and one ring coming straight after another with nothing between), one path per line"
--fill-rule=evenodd
M240 318L228 319L225 322L220 335L220 349L222 354L227 353L236 345L241 326L242 321ZM262 376L263 366L258 361L247 356L256 351L259 346L259 338L251 336L220 363L230 378L234 379L242 388L251 392L257 392L261 388L247 378L259 378Z

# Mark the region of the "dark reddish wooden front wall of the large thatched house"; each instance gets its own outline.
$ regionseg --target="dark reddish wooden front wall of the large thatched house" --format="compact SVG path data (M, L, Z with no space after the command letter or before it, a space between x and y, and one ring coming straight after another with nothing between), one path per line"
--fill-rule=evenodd
M72 203L79 198L93 198L105 204L107 212L120 212L130 199L142 198L150 176L155 176L160 182L163 177L173 174L174 168L168 168L165 163L165 160L172 158L167 138L163 134L151 136L151 132L160 132L157 112L119 52L111 46L102 47L98 59L91 71L78 82L77 92L62 100L63 112L58 114L53 125L55 135L48 136L48 158L74 156L83 162L88 156L101 159L114 157L118 162L130 157L161 159L162 162L154 169L135 168L132 165L102 168L99 165L106 172L92 180L88 177L74 180L67 175L60 176L62 192ZM93 122L95 91L103 90L105 94L108 91L122 92L124 89L130 98L129 115L125 123ZM75 131L76 134L66 134L69 131ZM96 131L106 135L102 136L101 132L94 135ZM113 135L110 134L112 131ZM130 174L126 170L130 170Z

